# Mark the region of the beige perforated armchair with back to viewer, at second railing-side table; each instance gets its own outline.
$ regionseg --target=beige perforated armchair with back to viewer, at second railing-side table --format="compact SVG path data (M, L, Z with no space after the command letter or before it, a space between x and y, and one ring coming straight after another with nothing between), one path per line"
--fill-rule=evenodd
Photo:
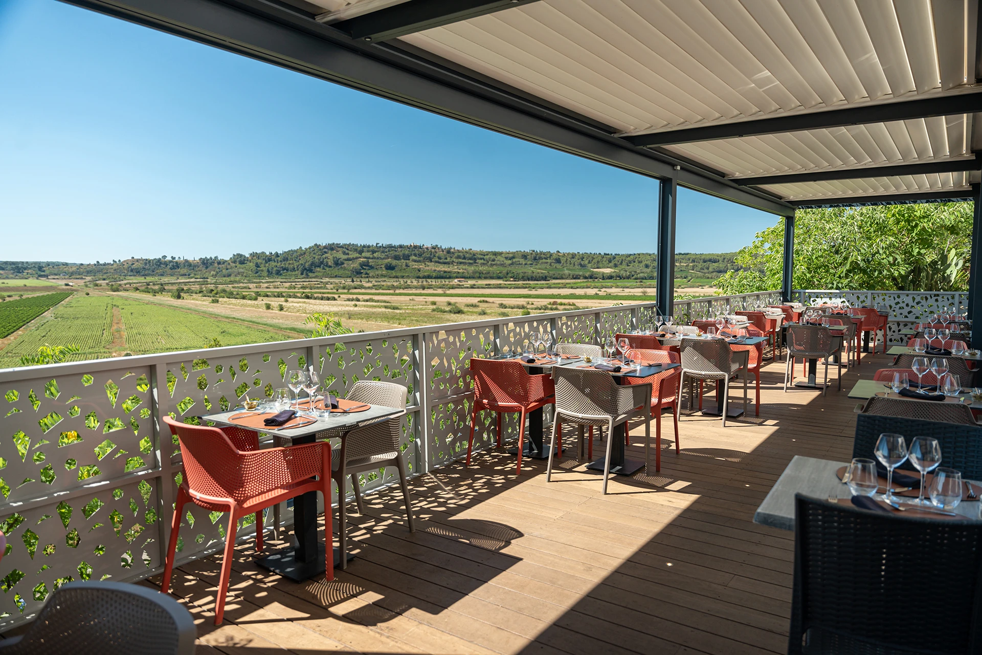
M651 383L618 386L606 371L585 368L553 367L556 384L556 420L553 421L552 445L549 448L549 464L546 466L546 482L552 481L552 461L556 452L556 431L560 421L579 427L582 450L583 427L607 426L607 459L604 461L603 493L607 493L607 478L611 469L611 446L614 443L614 427L639 416L644 418L644 441L651 436ZM629 429L625 425L625 430Z

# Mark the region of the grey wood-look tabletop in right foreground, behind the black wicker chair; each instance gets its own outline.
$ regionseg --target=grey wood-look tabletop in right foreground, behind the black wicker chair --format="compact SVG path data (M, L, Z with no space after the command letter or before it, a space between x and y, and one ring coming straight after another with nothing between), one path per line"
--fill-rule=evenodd
M847 462L830 462L795 455L791 464L771 487L764 502L753 515L753 522L783 530L794 529L794 494L826 500L850 498L851 492L836 475ZM971 482L978 484L975 480ZM978 519L982 501L962 501L954 512L966 519ZM923 516L923 515L921 515Z

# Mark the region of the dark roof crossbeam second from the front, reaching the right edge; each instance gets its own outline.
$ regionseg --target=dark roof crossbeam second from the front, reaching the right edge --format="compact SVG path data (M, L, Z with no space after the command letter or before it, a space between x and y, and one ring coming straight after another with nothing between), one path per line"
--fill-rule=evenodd
M973 114L982 111L982 92L938 95L914 100L895 100L881 104L866 104L843 109L774 116L722 125L706 125L697 128L680 128L656 132L650 135L625 136L633 143L650 147L653 145L672 145L674 143L693 143L711 141L718 138L736 136L777 135L801 130L822 128L842 128L864 123L888 123L906 121L932 116L952 116Z

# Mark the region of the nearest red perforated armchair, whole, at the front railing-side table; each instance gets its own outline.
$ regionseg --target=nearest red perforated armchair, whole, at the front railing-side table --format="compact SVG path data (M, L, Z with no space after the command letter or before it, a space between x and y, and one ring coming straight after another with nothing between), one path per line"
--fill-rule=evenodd
M167 547L164 577L160 590L167 593L174 570L178 531L184 506L193 503L212 512L228 512L225 532L225 557L215 601L215 625L222 624L229 573L235 555L236 527L239 519L282 503L308 491L324 494L326 578L334 579L334 538L331 525L331 445L326 441L312 444L241 451L229 435L216 427L188 425L164 416L171 433L181 441L184 479L178 489L171 521L171 540ZM234 428L235 429L235 428ZM247 432L249 430L243 430ZM237 435L237 439L243 435ZM261 523L256 525L262 533ZM262 548L257 538L257 550Z

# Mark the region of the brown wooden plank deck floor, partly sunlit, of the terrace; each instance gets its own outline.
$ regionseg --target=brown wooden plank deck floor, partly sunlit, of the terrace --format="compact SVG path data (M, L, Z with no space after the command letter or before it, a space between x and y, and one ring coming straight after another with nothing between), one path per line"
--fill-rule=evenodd
M370 496L353 515L357 558L333 582L265 572L243 546L219 628L220 557L176 572L173 592L199 653L786 652L793 535L754 510L792 456L847 461L846 393L887 360L867 355L842 392L833 374L824 398L782 393L785 363L771 363L759 417L683 417L678 456L666 420L661 473L612 479L607 496L569 458L546 484L545 463L517 478L501 453L415 479L414 534L398 491Z

